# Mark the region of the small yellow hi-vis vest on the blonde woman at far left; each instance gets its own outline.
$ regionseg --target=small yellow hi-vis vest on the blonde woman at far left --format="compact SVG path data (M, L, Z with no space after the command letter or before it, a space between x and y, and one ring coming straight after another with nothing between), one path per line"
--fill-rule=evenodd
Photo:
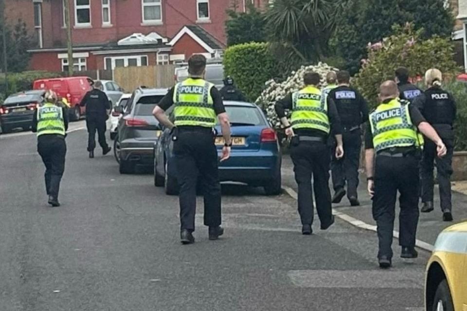
M65 136L63 110L51 103L46 103L37 109L37 136L45 134Z

